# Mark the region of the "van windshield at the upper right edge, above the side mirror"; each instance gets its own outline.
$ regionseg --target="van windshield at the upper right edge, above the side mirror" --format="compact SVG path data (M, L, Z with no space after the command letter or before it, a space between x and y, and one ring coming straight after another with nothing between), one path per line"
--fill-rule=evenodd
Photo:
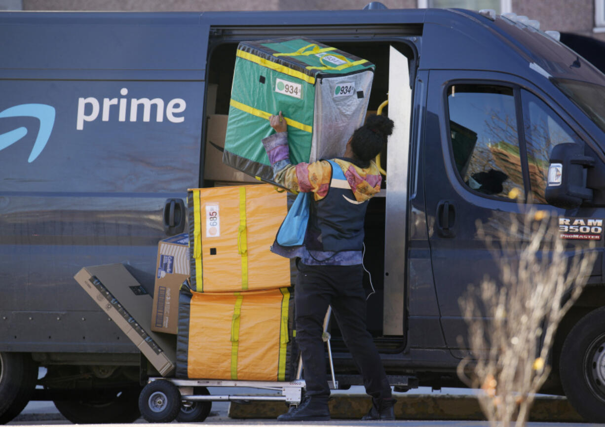
M553 79L552 82L605 132L604 86L567 79Z

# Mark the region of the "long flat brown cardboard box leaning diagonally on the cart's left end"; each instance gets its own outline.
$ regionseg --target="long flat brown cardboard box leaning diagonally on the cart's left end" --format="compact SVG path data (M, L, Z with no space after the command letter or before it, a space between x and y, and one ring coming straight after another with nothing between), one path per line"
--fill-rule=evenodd
M151 365L168 377L174 373L174 336L157 334L151 325L152 298L122 264L84 267L74 276L82 288L136 345Z

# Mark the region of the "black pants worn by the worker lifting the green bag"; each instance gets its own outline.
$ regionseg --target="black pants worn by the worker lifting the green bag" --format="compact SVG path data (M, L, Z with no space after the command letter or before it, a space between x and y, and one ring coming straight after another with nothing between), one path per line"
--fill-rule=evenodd
M365 326L365 292L361 265L306 266L298 263L296 281L296 343L302 353L307 394L322 399L330 396L325 370L325 343L321 336L329 305L342 337L364 379L371 397L389 398L382 361Z

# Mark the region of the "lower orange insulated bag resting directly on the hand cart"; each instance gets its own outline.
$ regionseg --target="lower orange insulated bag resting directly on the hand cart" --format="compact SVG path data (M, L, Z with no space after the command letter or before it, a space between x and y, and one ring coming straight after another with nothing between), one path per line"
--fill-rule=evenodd
M194 292L181 287L177 377L287 381L296 362L289 288Z

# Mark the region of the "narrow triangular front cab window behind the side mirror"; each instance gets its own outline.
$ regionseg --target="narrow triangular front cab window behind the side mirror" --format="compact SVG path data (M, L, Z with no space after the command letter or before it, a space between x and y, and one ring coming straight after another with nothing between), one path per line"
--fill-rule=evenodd
M552 109L534 94L521 91L523 128L527 146L529 182L534 201L546 203L544 192L552 148L563 143L583 143Z

